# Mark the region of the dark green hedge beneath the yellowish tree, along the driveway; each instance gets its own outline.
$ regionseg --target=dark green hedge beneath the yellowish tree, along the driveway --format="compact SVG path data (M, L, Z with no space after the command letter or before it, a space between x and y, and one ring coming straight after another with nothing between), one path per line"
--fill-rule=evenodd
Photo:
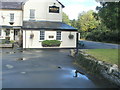
M104 41L104 42L114 42L119 43L118 31L111 31L109 28L102 26L92 32L88 33L86 36L87 40L92 41Z

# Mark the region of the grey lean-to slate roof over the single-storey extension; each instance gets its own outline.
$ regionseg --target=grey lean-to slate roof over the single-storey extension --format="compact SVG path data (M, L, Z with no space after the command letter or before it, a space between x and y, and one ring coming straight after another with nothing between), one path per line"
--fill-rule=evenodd
M77 31L72 26L69 26L62 22L50 22L50 21L24 21L23 22L23 29L33 29L33 30L65 30L65 31Z

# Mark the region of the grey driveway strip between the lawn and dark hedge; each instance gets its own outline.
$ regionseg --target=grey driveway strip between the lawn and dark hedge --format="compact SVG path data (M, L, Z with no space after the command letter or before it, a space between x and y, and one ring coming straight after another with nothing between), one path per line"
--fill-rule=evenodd
M102 42L94 42L94 41L86 41L80 40L84 43L83 49L118 49L120 45L110 44L110 43L102 43Z

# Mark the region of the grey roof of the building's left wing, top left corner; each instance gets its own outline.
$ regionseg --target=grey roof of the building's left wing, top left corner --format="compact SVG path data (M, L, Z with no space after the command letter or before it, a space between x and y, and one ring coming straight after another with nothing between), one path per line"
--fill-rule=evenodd
M16 9L22 10L22 2L1 2L1 9Z

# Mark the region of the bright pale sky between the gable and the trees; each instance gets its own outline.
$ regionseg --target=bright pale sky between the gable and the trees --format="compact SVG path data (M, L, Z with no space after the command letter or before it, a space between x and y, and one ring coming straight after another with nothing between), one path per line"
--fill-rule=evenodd
M77 19L78 14L83 11L94 10L100 6L95 0L59 0L65 5L63 11L70 19Z

